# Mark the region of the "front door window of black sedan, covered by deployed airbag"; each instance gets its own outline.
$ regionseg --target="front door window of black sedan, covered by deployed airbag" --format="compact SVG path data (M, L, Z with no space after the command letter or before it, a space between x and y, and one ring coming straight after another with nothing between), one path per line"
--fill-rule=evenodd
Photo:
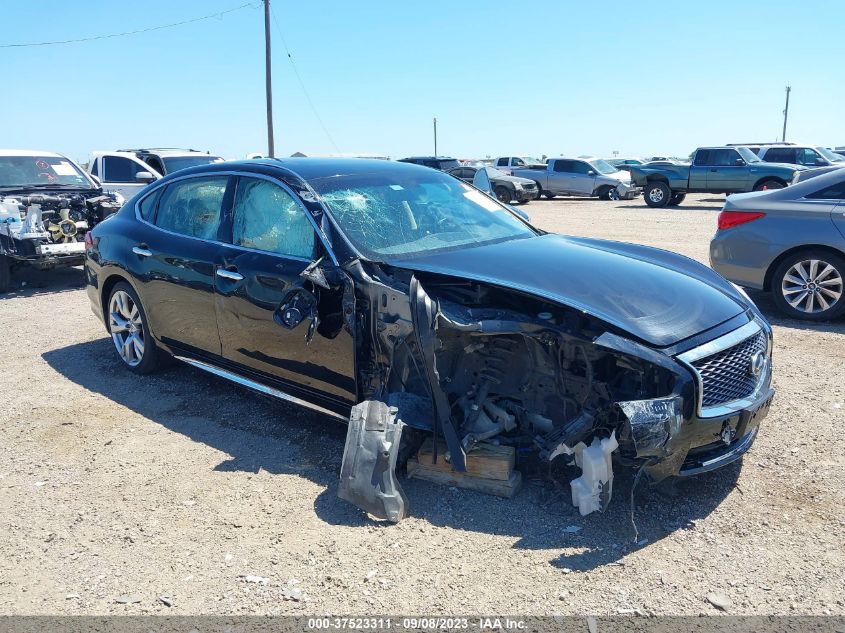
M235 193L232 243L311 259L314 227L305 210L279 185L260 178L240 178Z

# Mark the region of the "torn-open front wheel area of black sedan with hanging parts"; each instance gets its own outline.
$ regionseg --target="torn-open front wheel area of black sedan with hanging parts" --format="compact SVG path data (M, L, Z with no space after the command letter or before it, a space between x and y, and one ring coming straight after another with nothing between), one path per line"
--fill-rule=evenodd
M610 501L611 453L617 462L651 468L654 481L677 470L680 394L687 416L694 396L690 376L679 376L669 357L588 314L488 284L400 269L390 271L390 281L383 270L353 272L365 282L356 288L369 289L356 297L356 327L373 335L356 338L379 345L359 350L364 402L353 410L357 439L347 440L347 453L368 446L362 429L381 434L381 444L369 448L371 463L360 463L367 450L356 453L356 470L379 473L382 494L368 491L362 501L342 476L342 498L390 520L405 515L404 494L388 468L403 426L431 432L435 446L445 440L440 458L457 471L481 443L572 464L581 469L571 493L582 515ZM389 412L373 409L373 401ZM392 426L400 429L385 435ZM685 451L679 455L683 460Z

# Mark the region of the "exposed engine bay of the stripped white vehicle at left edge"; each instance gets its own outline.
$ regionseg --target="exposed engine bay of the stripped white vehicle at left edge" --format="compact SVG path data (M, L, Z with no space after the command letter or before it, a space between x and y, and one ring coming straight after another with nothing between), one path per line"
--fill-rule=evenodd
M85 234L117 211L115 194L0 194L0 255L39 268L82 263Z

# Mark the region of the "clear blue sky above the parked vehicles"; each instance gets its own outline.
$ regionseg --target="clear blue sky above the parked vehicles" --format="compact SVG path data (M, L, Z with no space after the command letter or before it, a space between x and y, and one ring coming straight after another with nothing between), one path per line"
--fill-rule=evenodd
M157 26L247 0L3 0L0 44ZM276 154L438 149L685 156L698 145L845 145L845 2L272 0ZM263 13L63 46L0 48L0 144L85 159L177 146L266 151ZM329 138L329 135L331 139Z

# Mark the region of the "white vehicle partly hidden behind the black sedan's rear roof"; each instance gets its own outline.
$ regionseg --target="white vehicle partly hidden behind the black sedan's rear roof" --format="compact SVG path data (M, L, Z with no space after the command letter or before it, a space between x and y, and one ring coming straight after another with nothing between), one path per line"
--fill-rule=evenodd
M92 152L88 171L103 183L103 188L120 192L128 200L154 180L174 171L222 160L220 156L193 149L122 149Z

